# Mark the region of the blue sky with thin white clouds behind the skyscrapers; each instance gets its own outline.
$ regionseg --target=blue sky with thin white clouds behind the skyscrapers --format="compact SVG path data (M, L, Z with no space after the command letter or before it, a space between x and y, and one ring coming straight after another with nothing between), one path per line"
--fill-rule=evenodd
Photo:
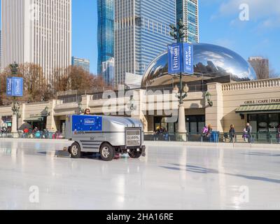
M47 1L47 0L46 0ZM90 59L97 71L97 1L72 0L72 55ZM239 20L239 6L247 3L249 20ZM200 42L223 45L245 59L267 57L280 74L279 0L200 0Z

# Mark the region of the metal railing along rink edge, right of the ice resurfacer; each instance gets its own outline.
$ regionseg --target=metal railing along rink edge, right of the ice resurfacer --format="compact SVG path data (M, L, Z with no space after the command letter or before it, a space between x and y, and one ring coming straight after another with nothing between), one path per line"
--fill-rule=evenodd
M185 138L181 134L162 133L144 135L145 141L187 141L193 142L214 142L214 143L251 143L251 144L280 144L279 134L277 132L253 132L244 134L241 132L235 133L231 137L230 133L213 132L211 136L205 137L200 133L187 133Z

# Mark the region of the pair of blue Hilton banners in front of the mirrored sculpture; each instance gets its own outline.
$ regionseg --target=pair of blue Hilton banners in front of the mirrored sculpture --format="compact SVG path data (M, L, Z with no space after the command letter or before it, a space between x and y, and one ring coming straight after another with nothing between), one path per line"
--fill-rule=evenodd
M173 43L168 46L168 73L193 74L193 45Z

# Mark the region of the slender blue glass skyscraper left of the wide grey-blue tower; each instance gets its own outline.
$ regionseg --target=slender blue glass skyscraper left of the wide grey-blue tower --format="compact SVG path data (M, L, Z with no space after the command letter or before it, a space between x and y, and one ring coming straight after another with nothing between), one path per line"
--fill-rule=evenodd
M98 64L97 74L102 75L103 62L114 57L114 0L97 0L98 10ZM104 78L105 79L105 78Z

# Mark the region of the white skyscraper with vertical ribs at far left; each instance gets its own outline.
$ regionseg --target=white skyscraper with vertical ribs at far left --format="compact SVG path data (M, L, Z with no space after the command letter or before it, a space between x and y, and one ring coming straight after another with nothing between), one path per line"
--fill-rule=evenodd
M71 0L1 0L1 68L31 62L48 83L71 65Z

